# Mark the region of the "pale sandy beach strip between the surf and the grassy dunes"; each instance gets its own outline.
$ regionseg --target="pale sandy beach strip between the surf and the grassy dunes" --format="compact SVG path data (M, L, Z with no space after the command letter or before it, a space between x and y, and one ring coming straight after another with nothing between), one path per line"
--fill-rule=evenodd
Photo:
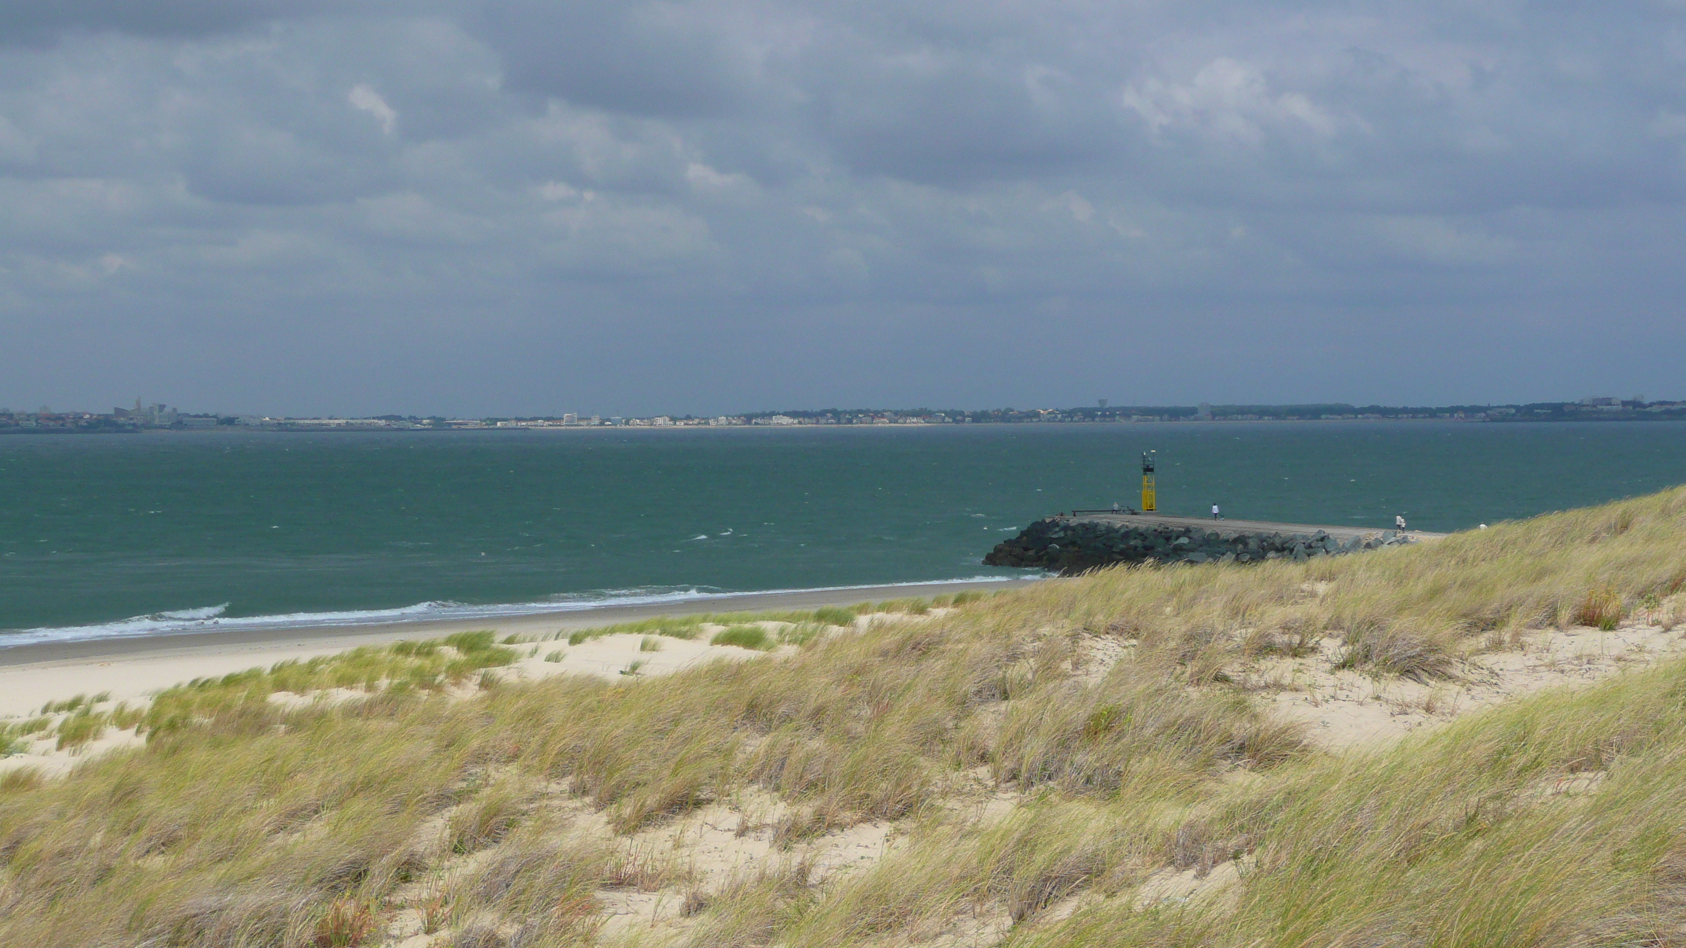
M357 646L379 646L401 639L435 639L452 633L492 629L499 638L551 638L556 633L636 622L658 616L691 616L700 612L760 612L781 609L818 609L917 595L944 595L961 590L1015 589L1039 580L1007 582L939 582L919 585L878 585L808 592L752 592L695 602L659 606L609 606L572 612L541 612L469 621L389 622L378 626L307 626L282 629L238 629L32 643L0 648L0 717L24 715L51 700L79 693L110 692L111 700L135 700L194 678L228 675L277 661L334 654ZM609 643L570 660L587 671L609 671L620 661ZM676 643L669 653L656 653L649 671L671 671L685 661L701 660L706 649ZM593 658L595 651L615 651ZM733 649L735 651L735 649ZM597 668L602 665L604 668Z

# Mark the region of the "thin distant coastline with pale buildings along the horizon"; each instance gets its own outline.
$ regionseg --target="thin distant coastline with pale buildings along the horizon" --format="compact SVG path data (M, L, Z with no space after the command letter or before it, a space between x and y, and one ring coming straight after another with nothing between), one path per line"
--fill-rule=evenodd
M0 434L133 434L133 432L440 432L440 430L580 430L580 428L733 428L733 427L858 427L858 425L1114 425L1212 422L1659 422L1686 420L1686 401L1644 401L1592 396L1580 401L1514 405L1114 405L1079 408L818 408L747 412L740 415L533 415L447 418L420 415L270 417L189 413L169 405L94 412L0 410Z

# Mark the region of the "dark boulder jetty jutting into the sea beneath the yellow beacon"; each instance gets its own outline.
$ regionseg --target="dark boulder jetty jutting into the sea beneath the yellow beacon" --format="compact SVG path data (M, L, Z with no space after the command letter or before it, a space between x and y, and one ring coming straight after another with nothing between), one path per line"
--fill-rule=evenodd
M1047 516L1027 526L1018 536L1000 543L983 563L1076 575L1113 563L1305 562L1313 557L1339 557L1411 541L1393 530L1340 540L1324 530L1290 533L1226 528L1221 520L1211 526L1195 526L1130 523L1128 518Z

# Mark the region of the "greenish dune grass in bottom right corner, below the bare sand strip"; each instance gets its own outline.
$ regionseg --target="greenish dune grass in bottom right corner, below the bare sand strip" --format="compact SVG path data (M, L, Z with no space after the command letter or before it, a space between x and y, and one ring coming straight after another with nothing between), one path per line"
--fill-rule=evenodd
M1013 945L1673 945L1686 923L1681 661L1276 778L1184 827L1258 854L1227 904L1120 901Z

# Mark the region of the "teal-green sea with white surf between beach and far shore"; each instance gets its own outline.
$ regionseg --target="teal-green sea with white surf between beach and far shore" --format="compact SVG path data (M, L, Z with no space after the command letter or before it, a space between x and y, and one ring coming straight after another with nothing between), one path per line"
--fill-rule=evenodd
M1462 530L1686 481L1683 423L0 437L0 636L381 621L1012 575L1037 516ZM285 617L285 619L278 619Z

